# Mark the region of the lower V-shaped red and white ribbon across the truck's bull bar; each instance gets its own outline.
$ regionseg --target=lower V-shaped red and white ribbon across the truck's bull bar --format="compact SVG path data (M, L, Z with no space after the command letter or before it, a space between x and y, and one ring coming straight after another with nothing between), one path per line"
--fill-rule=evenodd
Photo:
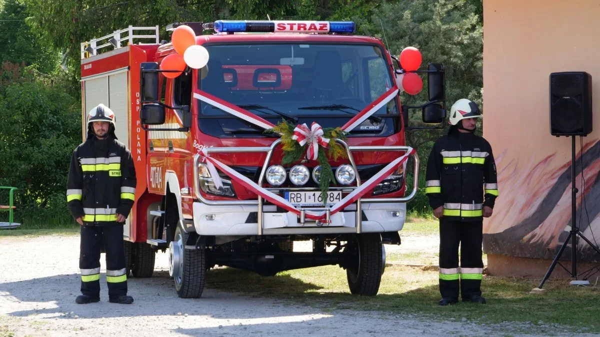
M340 200L336 204L334 204L334 206L332 206L330 209L330 215L340 212L340 210L343 210L349 204L351 204L351 203L355 202L356 200L358 200L359 198L361 198L368 191L373 189L378 183L382 182L383 179L385 179L392 172L394 172L394 170L398 169L398 166L403 165L406 162L406 160L408 159L408 157L414 153L415 153L415 150L413 148L409 148L408 151L406 151L406 154L404 154L403 156L401 156L399 158L396 158L394 161L392 161L392 163L389 163L382 170L377 172L377 174L375 174L373 177L371 177L371 179L364 182L361 186L356 188L350 194L346 195L346 197L344 197L342 200ZM227 176L231 177L231 179L235 180L235 182L240 183L242 186L244 186L249 191L252 191L252 192L260 195L261 197L265 198L269 202L271 202L277 206L280 206L281 208L286 209L289 212L295 213L296 215L300 215L300 210L296 209L296 207L293 206L293 204L291 204L286 199L280 197L280 195L269 192L267 189L263 188L262 186L259 186L257 183L253 182L252 180L248 179L247 177L242 176L242 174L239 174L238 171L233 170L231 167L227 166L226 164L221 163L220 161L216 160L215 158L206 157L206 160L209 162L212 162L216 167L218 167L218 169L220 169L225 174L227 174ZM314 211L308 210L305 212L305 216L309 219L323 220L323 219L325 219L325 212L323 212L323 211L314 212Z

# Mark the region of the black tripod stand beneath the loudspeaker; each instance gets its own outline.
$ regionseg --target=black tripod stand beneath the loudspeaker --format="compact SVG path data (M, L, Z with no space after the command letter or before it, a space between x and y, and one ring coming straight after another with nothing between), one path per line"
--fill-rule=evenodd
M569 243L569 239L571 239L571 272L569 272L569 270L563 267L562 264L560 266L563 267L567 272L569 272L571 277L574 277L575 279L577 279L577 236L581 236L581 239L586 240L587 244L594 248L596 252L598 252L598 254L600 254L600 250L598 249L598 247L593 245L592 242L590 242L590 240L583 236L583 234L581 234L581 231L579 231L579 227L577 226L577 205L575 203L575 200L577 200L578 189L575 187L575 136L571 137L571 230L569 231L569 236L566 237L565 243L563 243L562 247L560 247L560 250L558 254L556 254L556 257L554 257L554 261L552 262L550 269L548 269L548 272L546 272L546 275L542 279L542 282L539 284L539 289L542 288L544 282L546 282L546 280L550 277L550 274L552 273L554 267L556 267L556 264L559 261L560 255L562 255L563 251L565 251L566 245L568 245ZM581 155L583 155L583 150ZM583 174L583 165L581 166L581 174Z

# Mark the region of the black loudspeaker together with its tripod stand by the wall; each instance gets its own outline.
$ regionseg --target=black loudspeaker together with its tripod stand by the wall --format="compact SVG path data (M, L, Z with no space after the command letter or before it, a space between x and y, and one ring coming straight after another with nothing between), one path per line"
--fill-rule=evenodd
M548 272L542 279L539 287L541 290L544 282L550 277L558 263L560 255L565 251L571 239L571 272L572 278L577 280L577 236L584 239L598 254L600 250L592 244L579 230L577 225L577 187L575 187L575 136L587 136L592 132L592 76L585 71L573 71L550 74L550 134L552 136L571 136L571 230L565 243L560 247L554 257ZM581 154L583 155L583 153ZM581 167L583 174L583 167ZM562 266L562 264L561 264ZM566 268L565 268L566 270ZM568 271L568 270L567 270ZM573 282L572 282L573 283ZM535 289L534 289L535 290Z

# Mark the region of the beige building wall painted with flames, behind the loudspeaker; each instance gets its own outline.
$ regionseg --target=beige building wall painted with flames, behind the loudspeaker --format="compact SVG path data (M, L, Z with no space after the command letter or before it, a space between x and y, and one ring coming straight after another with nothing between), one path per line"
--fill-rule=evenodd
M549 261L530 259L553 258L568 234L571 138L550 135L549 77L559 71L587 71L600 101L600 1L484 0L484 137L494 151L500 193L484 222L491 273L545 272ZM593 133L583 137L586 189L578 175L577 214L583 191L591 225L584 210L580 227L592 242L593 230L600 243L598 107ZM600 261L583 240L579 245L580 257ZM570 256L568 246L563 257ZM521 259L515 264L512 257ZM528 270L528 263L539 270Z

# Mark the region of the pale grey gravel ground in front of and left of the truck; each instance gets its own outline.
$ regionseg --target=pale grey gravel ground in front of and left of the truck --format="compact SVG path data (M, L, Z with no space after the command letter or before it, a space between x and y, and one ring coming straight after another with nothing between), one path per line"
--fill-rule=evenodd
M432 245L432 240L422 240ZM406 247L403 241L404 247ZM300 248L300 247L298 247ZM397 246L386 246L388 251ZM415 247L407 248L415 249ZM434 246L437 249L437 245ZM474 324L383 312L325 312L281 300L205 289L202 299L179 299L169 278L167 254L157 272L130 279L135 302L108 302L101 257L101 301L74 302L79 294L79 236L0 238L0 336L382 336L521 335L526 324ZM569 335L557 329L553 335Z

